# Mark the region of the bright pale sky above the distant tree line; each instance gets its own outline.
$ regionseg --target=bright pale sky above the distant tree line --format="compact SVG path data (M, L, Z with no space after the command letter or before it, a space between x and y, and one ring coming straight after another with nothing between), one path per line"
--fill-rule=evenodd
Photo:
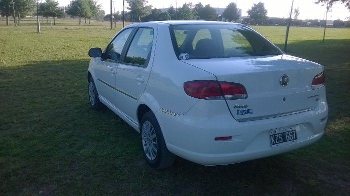
M58 0L61 6L66 6L69 4L70 0ZM115 11L122 11L122 0L113 0ZM170 5L175 7L181 7L183 3L192 2L196 4L201 2L203 5L210 4L212 7L226 7L228 3L234 2L237 7L242 9L242 15L245 16L246 11L251 8L253 3L258 3L259 1L265 4L265 9L267 9L267 16L269 17L288 17L290 11L290 5L292 0L148 0L148 5L152 5L152 8L167 8ZM321 4L313 3L316 0L294 0L293 9L299 7L298 19L323 19L325 17L325 6ZM102 5L102 9L106 12L110 12L110 0L98 0L98 3ZM125 10L127 3L125 1ZM332 6L332 11L328 12L327 19L341 19L347 20L346 18L350 16L350 12L345 8L344 4L335 3Z

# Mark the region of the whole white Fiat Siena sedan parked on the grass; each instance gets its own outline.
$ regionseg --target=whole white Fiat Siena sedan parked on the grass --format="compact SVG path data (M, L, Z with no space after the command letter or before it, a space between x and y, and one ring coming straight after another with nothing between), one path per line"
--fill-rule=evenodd
M243 162L323 135L323 66L283 53L248 26L131 24L88 54L91 108L104 104L139 132L153 168L175 155L207 166Z

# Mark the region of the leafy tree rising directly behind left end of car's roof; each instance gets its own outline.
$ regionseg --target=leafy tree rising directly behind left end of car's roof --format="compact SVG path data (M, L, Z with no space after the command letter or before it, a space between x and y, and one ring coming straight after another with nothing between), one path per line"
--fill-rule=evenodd
M126 8L130 10L131 15L138 17L139 22L141 22L141 17L151 13L152 5L146 5L147 0L126 0L126 2L129 4Z

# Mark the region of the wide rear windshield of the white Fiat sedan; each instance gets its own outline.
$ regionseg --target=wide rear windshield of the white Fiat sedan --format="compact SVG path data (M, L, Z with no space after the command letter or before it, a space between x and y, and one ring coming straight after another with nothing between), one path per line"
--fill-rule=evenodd
M235 24L170 25L179 59L278 55L282 52L247 26Z

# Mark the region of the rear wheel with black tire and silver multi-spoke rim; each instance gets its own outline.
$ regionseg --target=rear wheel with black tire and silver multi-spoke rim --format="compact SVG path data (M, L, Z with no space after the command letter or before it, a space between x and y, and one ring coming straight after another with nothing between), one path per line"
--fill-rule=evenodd
M140 143L147 164L155 169L168 168L175 156L165 145L160 126L152 112L146 112L140 123Z

